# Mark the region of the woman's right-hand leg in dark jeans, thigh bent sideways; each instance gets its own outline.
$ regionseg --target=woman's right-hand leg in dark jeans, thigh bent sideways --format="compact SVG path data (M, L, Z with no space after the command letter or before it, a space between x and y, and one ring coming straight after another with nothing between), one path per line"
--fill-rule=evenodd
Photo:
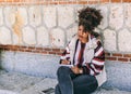
M81 75L73 79L74 94L91 94L97 86L97 80L94 76Z

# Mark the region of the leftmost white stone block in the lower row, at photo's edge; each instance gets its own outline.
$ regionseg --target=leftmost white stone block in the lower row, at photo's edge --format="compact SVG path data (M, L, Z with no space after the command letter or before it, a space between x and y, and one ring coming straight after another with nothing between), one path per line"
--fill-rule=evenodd
M0 43L12 44L11 31L7 27L0 27Z

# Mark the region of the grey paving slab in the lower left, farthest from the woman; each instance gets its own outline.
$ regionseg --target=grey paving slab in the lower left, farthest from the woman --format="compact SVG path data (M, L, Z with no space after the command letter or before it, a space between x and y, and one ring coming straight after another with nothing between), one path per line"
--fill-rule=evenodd
M19 72L2 71L2 73L0 73L0 90L22 92L28 89L29 86L38 83L43 79L44 78L26 76Z

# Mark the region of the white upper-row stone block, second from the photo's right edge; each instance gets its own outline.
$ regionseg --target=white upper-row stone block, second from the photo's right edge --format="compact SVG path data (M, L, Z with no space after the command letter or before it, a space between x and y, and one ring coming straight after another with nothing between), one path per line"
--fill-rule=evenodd
M123 25L123 6L122 4L110 5L109 26L118 30Z

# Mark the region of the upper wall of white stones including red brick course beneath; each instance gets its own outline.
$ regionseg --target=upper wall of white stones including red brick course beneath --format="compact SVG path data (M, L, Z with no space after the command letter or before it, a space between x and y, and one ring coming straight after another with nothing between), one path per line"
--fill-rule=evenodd
M5 51L60 55L78 31L78 11L88 4L0 5L0 48ZM104 19L106 59L131 62L131 3L90 4Z

